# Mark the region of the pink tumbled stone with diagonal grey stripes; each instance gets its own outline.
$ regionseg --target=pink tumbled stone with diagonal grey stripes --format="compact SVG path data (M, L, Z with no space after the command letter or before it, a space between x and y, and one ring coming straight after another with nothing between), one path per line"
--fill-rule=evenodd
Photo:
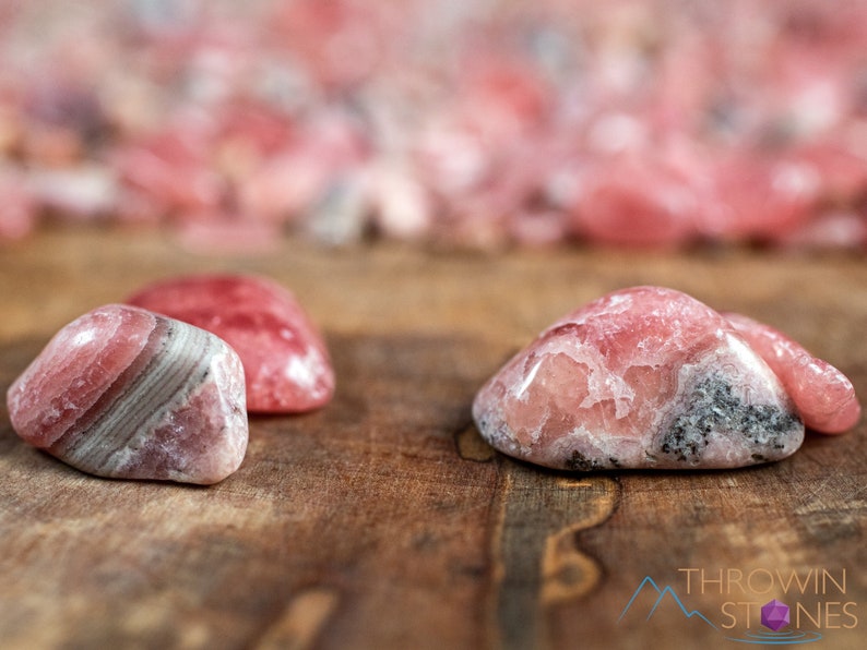
M100 306L63 327L7 402L22 438L100 477L211 484L247 450L235 351L134 306Z

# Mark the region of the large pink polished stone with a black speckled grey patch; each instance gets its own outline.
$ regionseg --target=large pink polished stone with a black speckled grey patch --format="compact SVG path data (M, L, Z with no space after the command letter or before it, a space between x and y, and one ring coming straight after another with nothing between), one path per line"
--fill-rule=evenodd
M783 384L717 312L638 287L561 318L478 392L497 449L570 470L735 468L798 449Z

